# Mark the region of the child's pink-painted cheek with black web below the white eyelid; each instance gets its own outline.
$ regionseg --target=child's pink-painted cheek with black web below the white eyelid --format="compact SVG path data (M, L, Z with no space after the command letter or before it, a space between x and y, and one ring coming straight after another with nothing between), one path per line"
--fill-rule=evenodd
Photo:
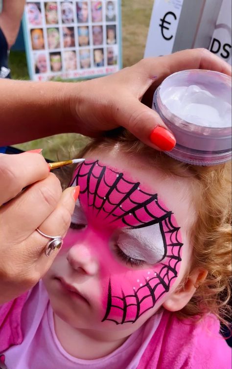
M175 249L175 248L174 248ZM181 250L180 250L181 252ZM102 266L103 321L116 324L135 323L164 298L180 272L181 254L168 255L162 263L149 269L130 269L104 256L107 270Z

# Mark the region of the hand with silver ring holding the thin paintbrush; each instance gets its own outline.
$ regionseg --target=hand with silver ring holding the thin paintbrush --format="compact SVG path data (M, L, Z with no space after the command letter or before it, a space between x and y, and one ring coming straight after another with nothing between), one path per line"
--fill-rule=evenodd
M0 155L0 304L28 290L50 267L57 252L47 257L49 239L35 230L64 237L75 205L73 191L62 193L37 153Z

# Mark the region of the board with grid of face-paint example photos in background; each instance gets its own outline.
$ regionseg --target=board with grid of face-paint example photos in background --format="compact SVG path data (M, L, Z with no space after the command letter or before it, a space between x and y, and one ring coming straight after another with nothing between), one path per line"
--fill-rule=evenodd
M26 1L32 79L81 78L117 71L118 11L116 0Z

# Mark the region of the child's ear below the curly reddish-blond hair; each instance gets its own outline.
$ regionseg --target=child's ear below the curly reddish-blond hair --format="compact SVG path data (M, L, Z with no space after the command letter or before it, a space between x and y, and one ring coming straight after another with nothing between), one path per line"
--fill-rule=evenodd
M208 272L206 270L195 269L191 275L184 278L183 284L163 302L162 306L168 311L181 310L194 295L197 287L205 280Z

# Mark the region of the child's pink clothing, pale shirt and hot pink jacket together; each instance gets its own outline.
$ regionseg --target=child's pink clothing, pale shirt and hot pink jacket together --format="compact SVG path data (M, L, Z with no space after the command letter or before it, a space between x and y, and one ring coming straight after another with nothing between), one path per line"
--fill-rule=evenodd
M112 354L97 360L76 359L56 337L40 282L28 296L0 306L0 369L231 369L231 348L218 332L219 322L212 315L194 323L164 311Z

